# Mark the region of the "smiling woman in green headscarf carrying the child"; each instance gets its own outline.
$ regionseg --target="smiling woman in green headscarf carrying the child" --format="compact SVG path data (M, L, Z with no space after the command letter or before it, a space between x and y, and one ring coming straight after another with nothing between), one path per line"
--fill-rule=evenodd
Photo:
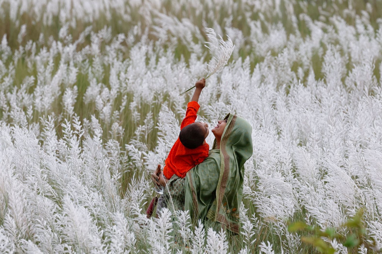
M252 127L241 117L228 113L211 130L215 136L209 156L187 172L167 182L160 166L152 180L166 186L157 211L169 208L189 210L193 223L201 219L206 227L223 227L239 233L239 208L243 197L244 163L253 153Z

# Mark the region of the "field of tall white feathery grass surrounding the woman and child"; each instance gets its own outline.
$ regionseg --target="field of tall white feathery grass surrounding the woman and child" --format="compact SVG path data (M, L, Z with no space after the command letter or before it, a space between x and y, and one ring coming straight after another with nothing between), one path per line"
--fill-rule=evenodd
M312 253L288 220L337 227L359 208L382 248L381 13L381 0L1 1L0 252ZM236 236L143 212L178 94L205 75L203 27L235 50L199 120L253 126Z

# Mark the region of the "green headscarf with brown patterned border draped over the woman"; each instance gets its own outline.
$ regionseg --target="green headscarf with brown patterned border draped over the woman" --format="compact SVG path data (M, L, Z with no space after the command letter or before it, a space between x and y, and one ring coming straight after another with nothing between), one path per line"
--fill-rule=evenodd
M220 222L239 232L239 208L243 198L244 163L253 153L252 127L241 117L228 113L220 150L216 139L209 157L187 173L185 209L195 219L210 225ZM219 158L220 157L220 158ZM216 164L220 162L220 170Z

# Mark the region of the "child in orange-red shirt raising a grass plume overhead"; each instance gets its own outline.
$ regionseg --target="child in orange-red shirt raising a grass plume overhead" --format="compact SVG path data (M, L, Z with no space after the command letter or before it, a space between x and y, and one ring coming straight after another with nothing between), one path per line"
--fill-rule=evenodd
M206 137L209 134L207 123L195 122L199 109L199 95L206 86L201 79L195 84L196 89L191 101L187 104L186 117L180 125L180 133L165 161L163 176L170 179L173 174L185 177L187 171L201 163L208 156L209 145Z

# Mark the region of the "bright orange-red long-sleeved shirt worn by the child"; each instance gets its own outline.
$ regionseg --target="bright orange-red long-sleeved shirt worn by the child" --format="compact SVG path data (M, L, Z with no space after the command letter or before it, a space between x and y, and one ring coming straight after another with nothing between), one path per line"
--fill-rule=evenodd
M196 112L199 108L200 106L196 101L188 102L186 117L183 119L180 129L183 129L185 126L195 122ZM173 174L176 174L182 178L185 177L187 171L207 158L209 149L210 147L206 142L195 149L189 149L180 142L178 137L165 161L163 175L167 179L170 179Z

